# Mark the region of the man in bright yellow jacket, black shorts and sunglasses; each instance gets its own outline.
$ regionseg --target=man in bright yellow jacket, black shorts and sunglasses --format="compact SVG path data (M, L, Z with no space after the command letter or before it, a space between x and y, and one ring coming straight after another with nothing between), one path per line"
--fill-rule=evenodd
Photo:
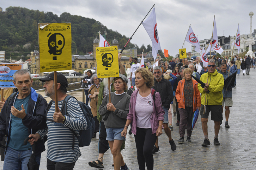
M208 138L207 122L209 117L209 112L211 111L211 119L214 121L214 145L220 145L218 140L218 134L220 130L220 121L222 117L222 100L223 94L222 89L224 86L224 78L222 74L218 73L216 69L216 64L214 61L210 60L208 62L208 73L202 74L200 80L205 83L205 87L202 88L201 84L198 84L198 90L202 93L201 98L201 122L203 135L205 135L205 140L202 146L210 145ZM208 83L207 83L208 78ZM203 114L204 104L206 105L205 114Z

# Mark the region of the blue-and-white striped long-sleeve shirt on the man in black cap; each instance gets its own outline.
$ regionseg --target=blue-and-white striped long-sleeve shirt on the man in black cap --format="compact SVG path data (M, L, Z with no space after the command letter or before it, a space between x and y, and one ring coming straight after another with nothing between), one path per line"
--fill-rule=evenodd
M62 106L63 100L58 102L58 106ZM52 103L47 113L48 119L53 119L55 112L55 102ZM67 102L66 121L64 124L52 123L47 121L48 129L37 131L41 139L48 135L47 158L54 162L72 163L81 156L79 150L78 139L75 137L75 147L72 150L73 133L69 129L73 129L79 136L79 130L86 130L87 122L80 108L80 105L74 98L70 98ZM48 134L47 134L48 133Z

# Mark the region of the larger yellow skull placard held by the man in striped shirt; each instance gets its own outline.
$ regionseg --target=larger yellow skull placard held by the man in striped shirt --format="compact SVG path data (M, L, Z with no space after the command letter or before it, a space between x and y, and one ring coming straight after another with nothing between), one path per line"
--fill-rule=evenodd
M71 70L71 23L38 24L40 72Z

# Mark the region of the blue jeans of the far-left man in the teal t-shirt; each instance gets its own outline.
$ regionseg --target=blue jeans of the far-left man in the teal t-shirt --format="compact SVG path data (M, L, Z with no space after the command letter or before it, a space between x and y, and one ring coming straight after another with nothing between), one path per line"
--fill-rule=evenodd
M32 150L17 151L10 147L7 147L4 170L28 170L27 164L29 163ZM36 156L36 162L40 164L41 153Z

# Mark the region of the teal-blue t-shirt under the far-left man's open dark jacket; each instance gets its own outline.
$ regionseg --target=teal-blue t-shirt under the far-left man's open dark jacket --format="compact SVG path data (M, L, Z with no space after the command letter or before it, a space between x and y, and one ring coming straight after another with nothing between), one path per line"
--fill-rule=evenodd
M22 105L24 106L25 112L28 113L28 103L29 103L30 94L24 99L17 99L14 102L14 107L17 110L22 110ZM11 114L11 124L10 124L10 140L8 147L14 150L28 150L31 149L31 145L28 142L27 145L23 145L26 137L30 135L28 127L24 126L22 119Z

